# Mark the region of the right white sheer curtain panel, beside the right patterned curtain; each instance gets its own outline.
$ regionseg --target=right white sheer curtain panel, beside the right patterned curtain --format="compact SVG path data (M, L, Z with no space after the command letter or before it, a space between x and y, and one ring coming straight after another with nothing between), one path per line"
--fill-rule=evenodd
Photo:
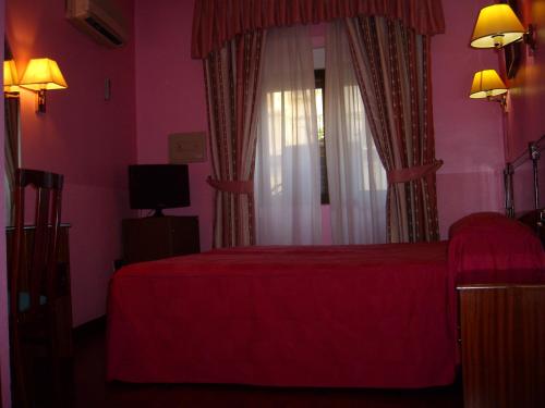
M334 244L386 242L387 181L352 67L343 22L327 25L325 126Z

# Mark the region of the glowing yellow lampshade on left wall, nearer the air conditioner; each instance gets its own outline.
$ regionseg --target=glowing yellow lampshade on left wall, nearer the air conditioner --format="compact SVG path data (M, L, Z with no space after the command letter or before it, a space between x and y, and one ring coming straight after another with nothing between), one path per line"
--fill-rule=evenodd
M68 88L59 65L49 58L32 59L20 85L33 90Z

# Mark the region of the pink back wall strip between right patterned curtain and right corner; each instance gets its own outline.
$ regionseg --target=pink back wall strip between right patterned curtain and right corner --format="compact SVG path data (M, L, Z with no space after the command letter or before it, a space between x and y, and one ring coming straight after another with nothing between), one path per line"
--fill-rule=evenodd
M504 133L498 103L471 100L476 71L498 69L493 50L474 50L469 40L481 8L489 0L443 1L446 33L433 38L433 97L439 225L475 211L502 211Z

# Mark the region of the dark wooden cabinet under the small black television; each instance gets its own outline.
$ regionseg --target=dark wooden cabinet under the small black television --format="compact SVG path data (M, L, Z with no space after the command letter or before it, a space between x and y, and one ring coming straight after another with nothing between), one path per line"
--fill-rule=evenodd
M123 260L152 261L201 251L197 217L147 217L123 220Z

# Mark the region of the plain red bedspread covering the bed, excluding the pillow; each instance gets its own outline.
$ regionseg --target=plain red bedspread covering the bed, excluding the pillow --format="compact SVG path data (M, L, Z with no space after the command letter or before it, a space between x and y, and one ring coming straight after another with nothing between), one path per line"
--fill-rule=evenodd
M108 379L282 386L451 383L447 244L215 250L111 281Z

